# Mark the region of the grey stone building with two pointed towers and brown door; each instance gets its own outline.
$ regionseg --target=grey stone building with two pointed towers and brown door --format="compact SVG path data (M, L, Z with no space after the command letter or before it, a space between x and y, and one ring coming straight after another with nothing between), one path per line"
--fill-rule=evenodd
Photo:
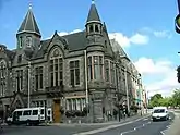
M46 106L60 122L60 110L88 107L89 121L96 122L112 114L115 103L123 103L127 94L131 105L136 71L122 48L112 49L115 44L94 3L84 30L65 36L55 32L45 40L29 8L16 33L16 49L0 45L3 116L15 108Z

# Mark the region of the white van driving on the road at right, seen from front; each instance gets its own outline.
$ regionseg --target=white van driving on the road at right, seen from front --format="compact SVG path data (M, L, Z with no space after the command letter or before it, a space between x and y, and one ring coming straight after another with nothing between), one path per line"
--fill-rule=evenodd
M169 120L169 111L166 107L155 107L152 112L153 121Z

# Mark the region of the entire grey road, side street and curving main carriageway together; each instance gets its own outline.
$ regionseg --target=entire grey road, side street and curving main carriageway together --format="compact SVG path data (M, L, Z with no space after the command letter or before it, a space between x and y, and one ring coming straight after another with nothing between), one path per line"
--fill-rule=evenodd
M170 116L173 119L173 114ZM132 121L128 124L117 124L119 127L111 130L106 128L108 126L4 126L2 135L85 135L95 131L93 135L163 135L161 131L166 130L171 123L169 121L152 122L151 118L142 119L139 121ZM110 125L109 125L110 126ZM98 128L98 130L97 130ZM99 133L99 130L104 132ZM97 132L98 131L98 132ZM1 134L1 133L0 133Z

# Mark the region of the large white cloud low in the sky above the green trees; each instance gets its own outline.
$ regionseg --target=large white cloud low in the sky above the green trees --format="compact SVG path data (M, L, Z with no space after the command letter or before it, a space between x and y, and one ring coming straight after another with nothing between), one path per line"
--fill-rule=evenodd
M149 75L155 78L154 82L145 84L146 89L149 91L148 97L157 93L163 94L163 96L169 96L175 88L179 87L177 71L170 61L154 61L149 58L140 58L134 64L144 78L147 79ZM161 79L157 82L156 77L159 76Z

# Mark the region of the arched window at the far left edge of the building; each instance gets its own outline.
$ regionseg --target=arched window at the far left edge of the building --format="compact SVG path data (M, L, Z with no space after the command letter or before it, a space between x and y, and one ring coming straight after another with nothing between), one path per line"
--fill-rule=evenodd
M0 96L4 96L7 87L7 64L4 61L0 62Z

